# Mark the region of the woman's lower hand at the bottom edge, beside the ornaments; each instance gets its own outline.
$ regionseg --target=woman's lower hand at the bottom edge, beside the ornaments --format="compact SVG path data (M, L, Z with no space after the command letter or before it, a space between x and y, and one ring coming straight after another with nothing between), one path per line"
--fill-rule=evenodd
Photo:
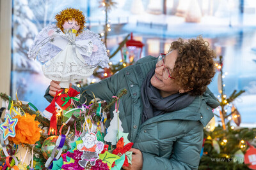
M136 169L142 169L143 166L143 155L140 152L140 150L136 149L136 148L131 148L132 151L132 164L129 164L129 167L124 167L123 169L125 170L136 170Z

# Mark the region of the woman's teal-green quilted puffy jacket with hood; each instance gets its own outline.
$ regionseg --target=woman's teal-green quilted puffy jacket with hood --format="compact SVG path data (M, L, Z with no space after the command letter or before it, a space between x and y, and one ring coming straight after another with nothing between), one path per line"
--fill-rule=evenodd
M141 122L143 104L141 84L148 71L156 67L155 57L144 57L136 64L126 67L109 78L83 88L73 87L79 92L86 90L96 97L110 101L122 89L127 89L120 99L120 120L133 148L143 153L143 169L197 169L203 142L203 128L213 117L212 108L219 103L209 89L196 96L188 107L165 113ZM48 101L49 89L45 93ZM115 104L114 104L115 105ZM112 106L110 112L115 110ZM111 115L111 118L113 115ZM109 120L106 122L108 127Z

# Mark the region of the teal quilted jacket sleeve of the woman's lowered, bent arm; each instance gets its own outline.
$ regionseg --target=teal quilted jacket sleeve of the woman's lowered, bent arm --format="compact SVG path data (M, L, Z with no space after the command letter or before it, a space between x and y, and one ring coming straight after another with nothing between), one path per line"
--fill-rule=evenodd
M173 144L170 159L142 153L143 169L198 169L203 138L203 125L198 122L184 137L177 139Z

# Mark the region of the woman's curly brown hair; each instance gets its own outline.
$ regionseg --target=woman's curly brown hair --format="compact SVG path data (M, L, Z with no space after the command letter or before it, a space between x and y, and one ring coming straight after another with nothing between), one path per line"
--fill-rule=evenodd
M202 95L215 74L216 53L202 36L186 42L179 38L172 42L172 50L178 52L172 74L175 83L192 96Z

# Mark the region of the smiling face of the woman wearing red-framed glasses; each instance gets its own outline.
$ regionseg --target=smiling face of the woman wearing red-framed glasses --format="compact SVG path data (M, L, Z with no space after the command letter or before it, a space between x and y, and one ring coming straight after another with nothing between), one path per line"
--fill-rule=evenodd
M181 90L171 78L163 78L163 69L166 67L168 70L173 69L175 65L175 60L177 59L178 52L177 50L172 50L172 52L166 54L164 57L164 66L157 66L155 69L155 74L150 79L150 83L160 90L162 97L167 97L172 94L175 94Z

